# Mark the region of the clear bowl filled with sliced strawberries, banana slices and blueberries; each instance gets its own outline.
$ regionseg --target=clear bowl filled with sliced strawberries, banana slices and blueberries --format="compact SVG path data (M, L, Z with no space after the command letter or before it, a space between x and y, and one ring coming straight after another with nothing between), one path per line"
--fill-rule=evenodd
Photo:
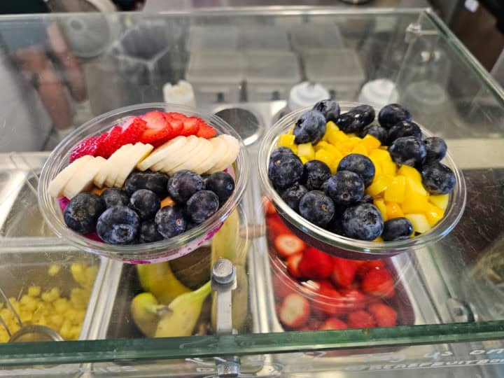
M132 263L172 260L221 228L246 188L243 141L217 116L153 103L98 116L49 155L38 204L59 237Z

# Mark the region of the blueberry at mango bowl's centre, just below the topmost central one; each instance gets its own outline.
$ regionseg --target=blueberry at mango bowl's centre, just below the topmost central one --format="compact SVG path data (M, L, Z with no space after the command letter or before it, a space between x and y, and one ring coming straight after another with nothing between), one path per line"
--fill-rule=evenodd
M325 193L342 206L360 201L364 194L364 183L360 176L350 171L338 171L328 180Z

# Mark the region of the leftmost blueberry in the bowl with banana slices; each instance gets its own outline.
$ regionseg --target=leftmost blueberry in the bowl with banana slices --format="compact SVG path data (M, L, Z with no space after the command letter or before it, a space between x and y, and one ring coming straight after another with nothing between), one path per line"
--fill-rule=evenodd
M71 230L87 234L96 230L97 220L106 209L105 201L94 193L79 193L63 211L63 218Z

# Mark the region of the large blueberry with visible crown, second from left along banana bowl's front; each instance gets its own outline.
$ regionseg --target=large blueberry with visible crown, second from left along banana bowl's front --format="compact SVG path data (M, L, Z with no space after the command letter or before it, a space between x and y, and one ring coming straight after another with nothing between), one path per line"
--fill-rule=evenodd
M140 219L137 213L125 206L106 209L98 218L98 236L109 244L131 244L137 239Z

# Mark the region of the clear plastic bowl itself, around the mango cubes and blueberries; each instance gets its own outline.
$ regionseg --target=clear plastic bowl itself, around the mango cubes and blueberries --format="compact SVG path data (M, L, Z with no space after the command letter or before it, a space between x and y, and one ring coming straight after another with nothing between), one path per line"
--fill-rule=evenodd
M342 113L358 105L361 104L339 102ZM442 239L453 230L463 214L466 193L462 171L456 166L449 151L442 162L453 170L456 178L455 188L449 196L448 206L442 220L428 230L428 232L419 236L407 240L381 242L351 239L314 225L288 207L269 182L267 175L269 155L271 155L274 148L276 148L276 140L279 134L286 133L290 127L293 127L297 119L310 109L311 108L304 108L294 111L276 122L262 139L259 151L259 176L264 193L269 200L272 201L276 211L288 228L290 228L297 237L304 240L307 244L325 253L330 253L331 255L354 260L372 260L397 255L405 251L416 251ZM379 109L375 109L375 111L378 114ZM419 126L421 127L424 137L431 137L433 135L428 132L425 127Z

